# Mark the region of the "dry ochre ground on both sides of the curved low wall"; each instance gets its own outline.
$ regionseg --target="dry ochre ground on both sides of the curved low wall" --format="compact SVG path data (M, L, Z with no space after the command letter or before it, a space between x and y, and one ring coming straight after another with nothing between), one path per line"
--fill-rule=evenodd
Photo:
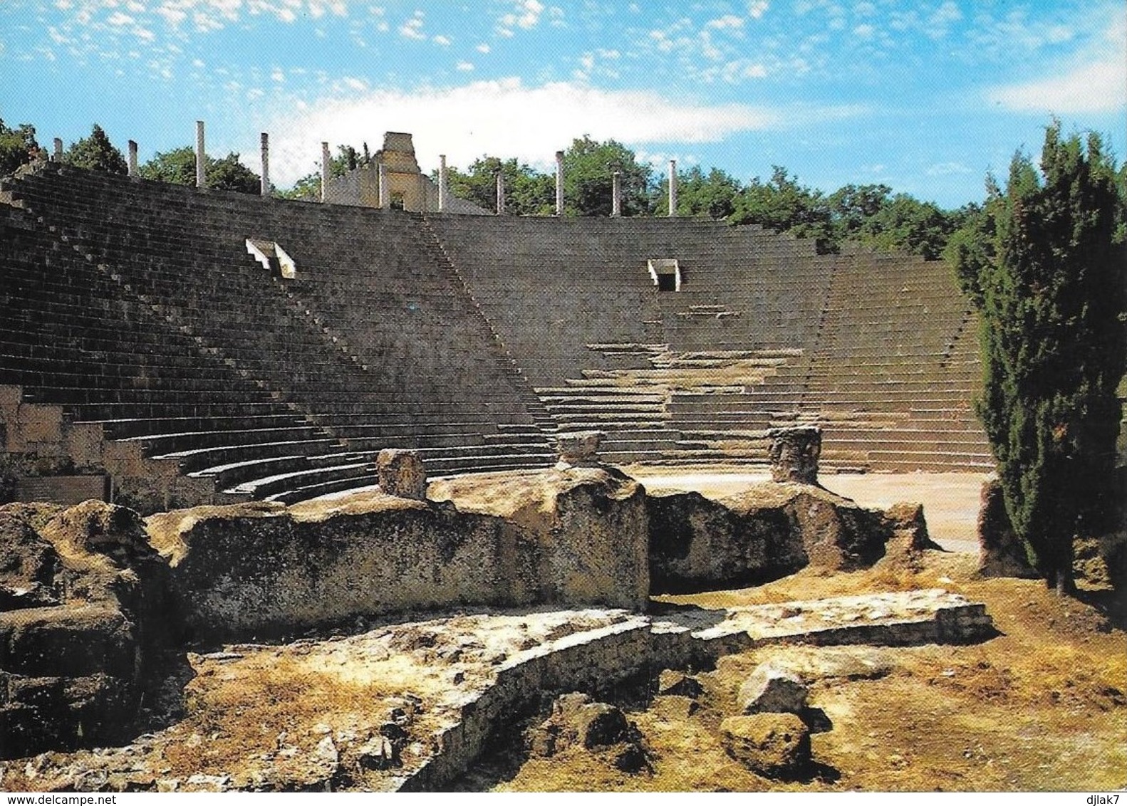
M648 487L696 489L709 495L735 492L763 478L708 468L631 472ZM965 549L976 547L982 480L970 474L826 475L826 487L866 504L921 501L932 537L944 548L959 550L893 553L862 572L808 568L757 588L660 597L657 607L721 608L943 588L986 604L997 629L992 639L917 647L777 645L730 655L716 669L692 670L703 686L694 701L654 697L648 680L612 697L641 734L648 768L640 772L623 772L611 755L582 747L550 759L531 756L524 728L542 718L532 717L498 735L494 751L456 787L515 791L1127 788L1122 601L1106 590L1089 588L1079 598L1059 598L1038 581L979 577L976 555ZM473 617L465 617L467 630L473 624ZM407 630L408 638L417 632ZM474 669L469 644L462 646L468 632L447 636L450 647L421 633L415 643L403 638L384 646L381 642L391 641L385 633L352 636L345 630L328 639L232 646L212 657L189 655L192 668L177 691L185 700L184 713L161 738L141 736L133 745L112 751L48 753L7 770L0 764L0 788L94 788L95 779L76 770L89 772L109 763L124 770L151 768L149 772L162 778L179 779L181 790L201 776L225 777L237 788L259 788L252 769L265 769L273 786L281 788L321 789L329 782L345 789L379 788L375 773L371 780L339 781L318 765L331 770L338 752L341 758L356 752L352 744L369 740L392 701L402 699L405 687L421 697L412 732L426 733L445 700L456 698L459 684L472 682ZM480 643L481 653L496 648L489 641ZM813 736L816 763L801 780L756 776L720 744L719 725L737 713L740 683L765 660L804 678L809 704L819 715ZM336 745L327 738L328 725L336 728ZM410 755L416 749L403 752Z

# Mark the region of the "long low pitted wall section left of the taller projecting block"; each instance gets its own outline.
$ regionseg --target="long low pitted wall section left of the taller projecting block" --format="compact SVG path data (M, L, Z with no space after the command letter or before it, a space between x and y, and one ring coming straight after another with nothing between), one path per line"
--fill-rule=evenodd
M328 517L234 504L150 518L199 637L411 609L527 604L534 557L499 519L379 496Z

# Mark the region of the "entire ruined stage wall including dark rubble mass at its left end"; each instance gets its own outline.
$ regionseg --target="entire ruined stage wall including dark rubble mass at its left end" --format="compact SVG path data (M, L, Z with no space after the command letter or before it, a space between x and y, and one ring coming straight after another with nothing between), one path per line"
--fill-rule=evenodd
M653 592L733 586L808 564L864 567L904 534L905 519L922 522L919 509L884 513L792 482L722 501L647 495L597 463L451 478L428 494L201 507L147 521L96 501L0 508L0 727L12 738L3 754L110 741L161 653L185 641L443 608L640 612ZM692 662L696 650L678 630L645 633L639 659ZM726 651L742 642L716 638ZM633 652L613 653L614 674Z

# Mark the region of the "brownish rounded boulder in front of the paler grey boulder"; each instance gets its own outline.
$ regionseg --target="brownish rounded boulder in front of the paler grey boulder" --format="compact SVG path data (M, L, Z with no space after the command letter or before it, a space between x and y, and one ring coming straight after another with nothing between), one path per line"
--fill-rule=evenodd
M720 723L728 755L766 778L800 778L811 764L810 729L793 714L730 716Z

